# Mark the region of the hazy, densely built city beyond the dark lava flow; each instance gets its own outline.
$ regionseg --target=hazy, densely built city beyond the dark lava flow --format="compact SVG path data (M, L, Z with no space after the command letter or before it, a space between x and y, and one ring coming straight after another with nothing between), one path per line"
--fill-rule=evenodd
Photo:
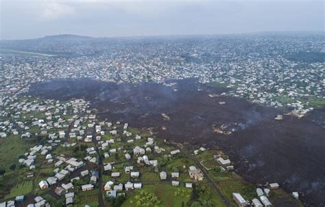
M31 83L85 77L116 83L162 83L165 79L197 78L201 83L228 87L230 96L273 107L287 105L300 113L307 113L312 107L308 100L299 98L324 98L324 62L286 58L298 51L324 51L319 36L292 38L278 35L276 42L267 34L204 37L204 42L180 38L175 45L168 38L147 44L141 41L98 41L103 42L95 45L86 40L75 42L73 49L67 49L61 42L50 44L50 48L36 42L22 45L7 42L14 44L17 50L53 52L52 47L56 47L56 51L69 51L67 53L82 54L82 57L2 56L0 105L5 105L12 94L27 92Z

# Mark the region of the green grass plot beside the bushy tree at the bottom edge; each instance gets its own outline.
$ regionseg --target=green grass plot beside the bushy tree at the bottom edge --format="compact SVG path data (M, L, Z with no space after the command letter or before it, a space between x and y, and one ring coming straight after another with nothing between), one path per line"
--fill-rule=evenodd
M184 193L182 195L176 195L177 189L184 189ZM150 193L154 193L158 199L160 200L160 206L164 207L172 207L172 206L182 206L182 202L189 202L191 197L192 189L186 189L185 187L173 187L171 184L154 184L154 185L145 185L143 187L144 191L148 191ZM123 207L132 207L136 206L131 200L134 201L135 195L137 195L139 191L136 191L132 197L129 197L123 204Z

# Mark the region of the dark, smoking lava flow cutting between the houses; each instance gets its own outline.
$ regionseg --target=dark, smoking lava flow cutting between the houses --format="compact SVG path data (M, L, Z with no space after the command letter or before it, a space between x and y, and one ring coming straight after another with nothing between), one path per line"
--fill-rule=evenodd
M222 92L226 89L189 79L167 85L66 79L33 84L29 94L56 100L84 98L99 109L101 118L156 127L159 137L197 147L220 146L246 180L278 182L288 192L304 193L302 200L308 206L324 206L325 129L311 118L284 115L283 120L274 120L284 111L219 96Z

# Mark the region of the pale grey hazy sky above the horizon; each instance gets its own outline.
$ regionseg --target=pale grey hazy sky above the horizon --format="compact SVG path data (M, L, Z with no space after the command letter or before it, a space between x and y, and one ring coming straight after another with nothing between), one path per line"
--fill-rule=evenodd
M324 1L0 0L1 39L324 31Z

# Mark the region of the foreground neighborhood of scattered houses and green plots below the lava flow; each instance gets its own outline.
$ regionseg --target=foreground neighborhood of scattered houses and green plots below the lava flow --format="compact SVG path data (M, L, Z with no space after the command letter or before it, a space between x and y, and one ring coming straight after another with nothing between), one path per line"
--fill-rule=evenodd
M253 186L242 191L245 181L221 150L191 149L160 139L149 128L97 120L96 110L82 99L20 98L2 116L8 121L0 122L6 135L1 139L8 147L19 141L27 150L16 152L19 157L7 164L16 163L19 178L1 206L111 206L118 197L123 197L122 206L132 206L141 190L152 187L184 193L173 201L177 205L189 202L197 187L214 192L202 196L215 205L269 206L270 191L287 196L277 183L257 188L256 195ZM25 141L29 141L26 146ZM228 184L215 183L221 180L234 182L240 193L228 195ZM217 186L219 191L213 189ZM298 199L298 193L294 195ZM164 202L160 197L157 204Z

